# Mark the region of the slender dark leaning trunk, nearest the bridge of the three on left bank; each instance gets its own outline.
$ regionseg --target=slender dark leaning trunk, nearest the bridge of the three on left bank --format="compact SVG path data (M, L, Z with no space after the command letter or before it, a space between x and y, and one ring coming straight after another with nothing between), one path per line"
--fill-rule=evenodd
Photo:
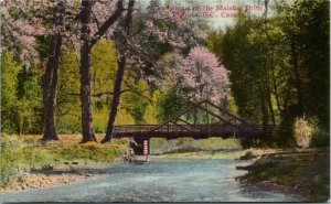
M126 21L125 21L125 32L127 35L130 34L130 30L131 30L134 7L135 7L135 0L130 0L129 6L128 6L127 15L126 15ZM126 39L124 39L122 43L124 43L122 44L124 50L127 49L128 41ZM120 100L121 84L122 84L122 78L125 75L125 68L126 68L126 63L127 63L125 52L120 52L119 49L118 49L118 52L119 52L117 54L118 69L116 73L116 79L115 79L115 85L114 85L114 95L113 95L113 100L111 100L111 106L110 106L110 111L109 111L107 131L106 131L105 138L102 141L103 143L109 142L113 139L114 128L115 128L115 119L117 116L119 100Z

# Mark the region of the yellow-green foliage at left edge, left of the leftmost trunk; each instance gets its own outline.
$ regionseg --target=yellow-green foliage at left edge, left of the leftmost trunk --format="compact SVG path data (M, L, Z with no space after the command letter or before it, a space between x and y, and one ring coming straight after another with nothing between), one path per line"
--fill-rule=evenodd
M41 71L30 64L21 65L12 53L1 57L2 132L41 132Z

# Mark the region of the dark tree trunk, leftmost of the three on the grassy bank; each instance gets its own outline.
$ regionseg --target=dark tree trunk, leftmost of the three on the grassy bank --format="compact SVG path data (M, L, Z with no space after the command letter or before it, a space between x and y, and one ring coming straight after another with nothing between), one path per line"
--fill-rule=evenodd
M54 26L57 29L63 25L64 4L63 1L54 8ZM43 140L58 140L55 125L56 92L58 65L62 47L62 34L57 31L52 35L49 62L43 76L43 104L44 104L44 122Z

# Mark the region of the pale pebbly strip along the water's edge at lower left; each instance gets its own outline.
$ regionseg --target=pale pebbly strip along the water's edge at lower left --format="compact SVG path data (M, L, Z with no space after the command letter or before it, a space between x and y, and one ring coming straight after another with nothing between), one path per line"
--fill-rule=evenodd
M6 186L2 191L11 192L67 185L109 173L110 171L102 163L79 165L65 164L56 168L45 167L42 169L31 169L29 171L19 173L12 183Z

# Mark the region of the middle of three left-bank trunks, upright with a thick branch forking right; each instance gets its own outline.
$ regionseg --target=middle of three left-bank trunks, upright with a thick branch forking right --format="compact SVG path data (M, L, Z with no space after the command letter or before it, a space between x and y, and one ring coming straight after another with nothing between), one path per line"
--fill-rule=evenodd
M95 19L93 23L94 12L93 9L99 2L95 1L82 1L81 3L81 61L79 61L79 73L81 73L81 101L82 101L82 142L96 141L94 131L93 131L93 117L92 117L92 98L90 98L90 51L92 47L97 43L103 35L109 30L111 25L120 18L124 12L122 0L117 1L117 8L113 14L99 25L99 19ZM97 9L97 8L96 8ZM99 10L107 11L107 10ZM104 18L105 13L99 14L98 17ZM96 26L96 30L92 30L93 26ZM109 32L109 31L108 31ZM111 31L110 31L111 32Z

